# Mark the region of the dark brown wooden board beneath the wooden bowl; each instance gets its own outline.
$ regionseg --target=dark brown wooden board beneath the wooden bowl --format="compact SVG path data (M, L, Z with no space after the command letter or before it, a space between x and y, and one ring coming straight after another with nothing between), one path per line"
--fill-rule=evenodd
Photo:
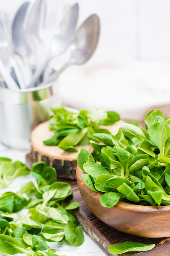
M31 168L33 159L31 154L26 155L26 164ZM60 179L61 180L61 179ZM170 256L170 238L142 238L137 236L131 236L119 232L104 222L100 221L86 206L82 196L79 193L79 189L76 181L64 180L71 184L71 189L73 190L73 201L79 202L79 209L74 213L79 222L79 225L82 226L84 232L90 236L95 243L104 251L108 256L113 256L108 252L108 247L115 243L125 242L125 241L135 241L146 244L155 244L155 247L148 252L128 252L123 254L124 256ZM142 223L139 223L142 225Z

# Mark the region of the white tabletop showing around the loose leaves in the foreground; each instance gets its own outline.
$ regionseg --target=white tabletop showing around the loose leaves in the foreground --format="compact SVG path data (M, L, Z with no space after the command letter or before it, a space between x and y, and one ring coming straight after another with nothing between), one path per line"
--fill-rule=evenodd
M14 150L11 148L7 148L6 146L2 145L0 143L0 157L9 157L15 160L20 160L21 162L25 163L25 156L29 153L29 151L24 150ZM18 188L20 184L20 177L16 178L13 184L9 185L6 190L11 191L15 190L15 187ZM1 191L2 192L2 191ZM84 233L85 241L83 245L79 247L74 247L70 245L62 245L57 246L56 248L53 246L53 248L57 249L56 254L62 255L62 256L105 256L106 254L100 249L100 247L93 242L93 240L87 236ZM55 245L56 246L56 245ZM18 254L19 255L19 254ZM24 254L20 254L24 255Z

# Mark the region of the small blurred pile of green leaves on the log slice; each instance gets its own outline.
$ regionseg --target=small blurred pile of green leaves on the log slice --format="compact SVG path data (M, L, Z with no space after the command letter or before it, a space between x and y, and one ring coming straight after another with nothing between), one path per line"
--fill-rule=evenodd
M89 140L96 139L93 133L108 133L107 129L100 129L99 126L112 125L120 120L119 114L114 111L77 111L64 107L51 107L51 110L53 115L49 120L49 130L55 131L55 134L43 143L57 145L68 152L77 152L77 145L87 145Z

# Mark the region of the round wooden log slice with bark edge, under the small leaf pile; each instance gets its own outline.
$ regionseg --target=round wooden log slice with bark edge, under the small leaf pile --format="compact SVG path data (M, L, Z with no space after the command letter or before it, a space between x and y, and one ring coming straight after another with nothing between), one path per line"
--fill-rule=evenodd
M117 131L123 121L119 121L113 126L105 126L111 132ZM102 126L104 127L104 126ZM49 131L49 121L38 125L30 137L31 155L34 162L44 161L57 171L57 177L76 180L77 155L81 148L92 150L91 144L78 146L78 152L66 152L58 146L46 146L42 141L51 138L54 131Z

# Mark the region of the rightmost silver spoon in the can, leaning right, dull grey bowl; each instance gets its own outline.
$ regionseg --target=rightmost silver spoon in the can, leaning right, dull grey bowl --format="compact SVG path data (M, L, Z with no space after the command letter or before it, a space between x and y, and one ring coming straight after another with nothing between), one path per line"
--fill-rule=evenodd
M82 23L75 34L73 43L71 43L71 58L38 86L54 81L69 65L82 65L86 63L95 52L99 40L99 32L99 17L97 14L92 14Z

